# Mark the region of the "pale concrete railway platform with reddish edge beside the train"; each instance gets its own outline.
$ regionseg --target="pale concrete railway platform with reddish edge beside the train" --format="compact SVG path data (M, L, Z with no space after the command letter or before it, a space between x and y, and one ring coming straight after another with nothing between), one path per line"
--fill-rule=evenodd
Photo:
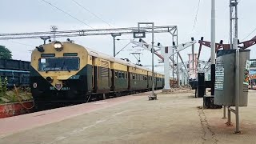
M240 108L242 134L226 126L222 109L202 110L194 90L148 101L134 94L0 119L0 143L254 143L256 91ZM234 115L233 119L234 120ZM233 121L234 122L234 121Z

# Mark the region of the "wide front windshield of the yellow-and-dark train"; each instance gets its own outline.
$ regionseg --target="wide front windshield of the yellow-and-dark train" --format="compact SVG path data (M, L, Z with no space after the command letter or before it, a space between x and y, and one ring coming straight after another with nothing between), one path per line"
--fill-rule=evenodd
M39 71L79 70L79 58L40 58Z

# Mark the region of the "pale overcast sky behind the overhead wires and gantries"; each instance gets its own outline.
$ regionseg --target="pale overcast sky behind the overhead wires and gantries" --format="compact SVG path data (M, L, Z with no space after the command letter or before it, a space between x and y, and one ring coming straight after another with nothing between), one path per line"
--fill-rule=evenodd
M198 8L198 0L75 0L91 13L98 15L111 26L132 27L137 26L137 22L154 22L156 26L178 26L178 42L188 42L191 37L199 39L204 37L210 41L210 0L201 0L197 21L194 25L194 19ZM54 6L66 11L67 13L78 18L80 21L71 18L62 11L50 6L46 2L52 3ZM49 31L50 26L58 26L58 30L80 30L91 29L84 23L90 25L94 29L97 28L113 28L105 22L96 18L93 14L78 6L72 0L2 0L0 13L0 33L16 33L16 32L33 32L33 31ZM238 38L245 38L250 32L256 28L256 20L253 15L256 13L254 9L256 1L240 0L238 4ZM229 38L229 0L216 0L216 42L223 39L228 42ZM194 28L193 28L194 27ZM247 39L253 38L256 31ZM132 38L131 35L121 36L119 38ZM147 35L146 42L150 42L150 35ZM101 51L106 54L113 54L113 40L111 36L94 36L71 38L74 42L87 46L94 50ZM60 41L66 38L58 38ZM26 45L18 44L23 43ZM122 40L116 42L117 51L129 41ZM171 45L170 34L155 34L155 42L161 42L163 46ZM30 50L34 50L34 46L42 44L39 39L12 40L2 41L0 45L9 48L13 53L14 59L30 61ZM135 58L130 55L129 51L133 45L127 46L126 51L118 54L118 58L130 58L132 62L136 62ZM198 45L195 46L198 51ZM210 58L210 49L204 47L202 50L202 59ZM251 47L251 58L256 58L254 50ZM150 53L146 50L142 51L142 64L150 65ZM191 53L190 49L182 52L182 58L187 61L187 54ZM158 62L157 60L155 62ZM158 69L163 71L162 69Z

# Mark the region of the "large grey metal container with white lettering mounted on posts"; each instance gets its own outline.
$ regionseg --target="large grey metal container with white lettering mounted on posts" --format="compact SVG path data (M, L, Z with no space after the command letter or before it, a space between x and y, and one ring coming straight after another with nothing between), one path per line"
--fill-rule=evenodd
M247 106L250 50L239 50L239 106ZM218 50L214 104L235 106L236 50ZM248 81L248 82L247 82Z

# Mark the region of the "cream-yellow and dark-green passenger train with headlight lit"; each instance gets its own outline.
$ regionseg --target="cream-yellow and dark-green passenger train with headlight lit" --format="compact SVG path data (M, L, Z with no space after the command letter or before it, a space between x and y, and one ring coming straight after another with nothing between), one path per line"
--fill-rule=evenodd
M50 42L31 54L30 88L36 106L46 103L88 102L151 90L150 70L90 50L74 42ZM154 73L155 89L164 75Z

